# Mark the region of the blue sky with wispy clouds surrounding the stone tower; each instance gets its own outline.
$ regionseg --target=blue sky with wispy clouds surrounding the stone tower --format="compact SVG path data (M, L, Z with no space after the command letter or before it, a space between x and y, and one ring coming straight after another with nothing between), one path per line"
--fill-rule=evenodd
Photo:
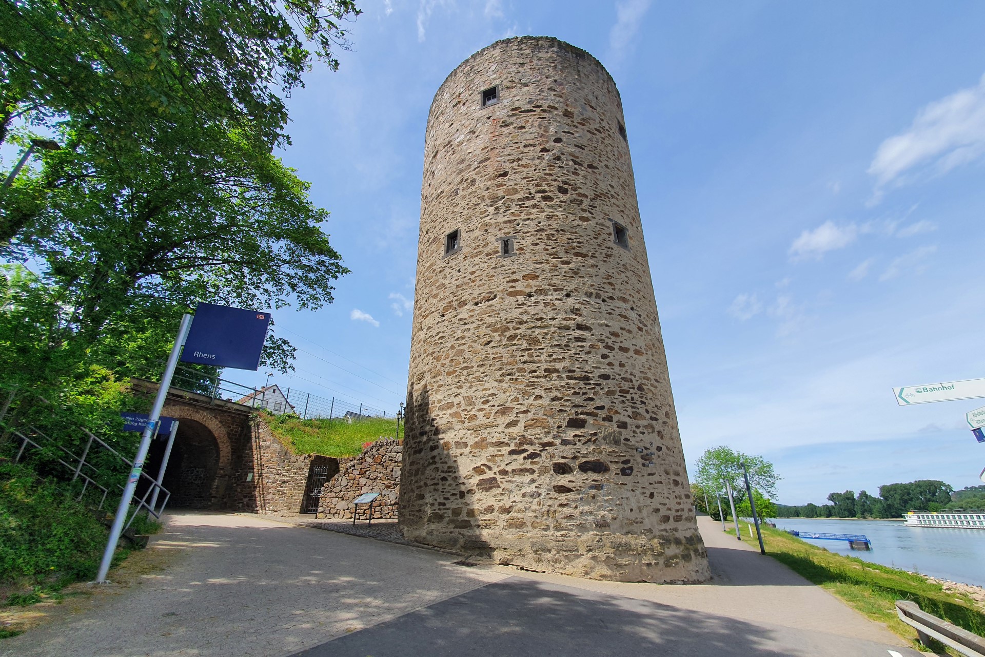
M353 273L333 305L275 313L309 352L275 380L396 409L430 100L493 40L549 34L622 93L689 464L763 454L785 503L980 483L963 415L985 400L899 408L891 387L985 377L985 4L361 6L339 72L290 100L283 154Z

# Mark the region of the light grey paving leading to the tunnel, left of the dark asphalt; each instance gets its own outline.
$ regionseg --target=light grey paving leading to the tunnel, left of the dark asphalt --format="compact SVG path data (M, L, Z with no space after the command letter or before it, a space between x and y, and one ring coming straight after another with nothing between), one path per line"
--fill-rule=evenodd
M439 552L209 512L172 515L135 558L160 566L59 606L50 622L4 639L0 654L289 655L509 576Z

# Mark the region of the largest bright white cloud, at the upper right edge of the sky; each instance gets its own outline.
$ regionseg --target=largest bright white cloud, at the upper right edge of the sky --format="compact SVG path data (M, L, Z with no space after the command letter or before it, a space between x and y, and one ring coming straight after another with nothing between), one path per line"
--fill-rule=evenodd
M906 182L904 173L926 167L945 173L985 154L985 76L976 87L929 103L909 130L880 144L869 173L876 178L873 203L886 185Z

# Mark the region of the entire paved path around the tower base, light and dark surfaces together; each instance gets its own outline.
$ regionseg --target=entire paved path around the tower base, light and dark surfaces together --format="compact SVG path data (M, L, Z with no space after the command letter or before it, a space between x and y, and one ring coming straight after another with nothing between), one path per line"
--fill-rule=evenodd
M706 517L714 579L656 586L463 567L442 553L246 515L181 513L162 562L3 655L819 655L919 653ZM141 561L143 559L143 561Z

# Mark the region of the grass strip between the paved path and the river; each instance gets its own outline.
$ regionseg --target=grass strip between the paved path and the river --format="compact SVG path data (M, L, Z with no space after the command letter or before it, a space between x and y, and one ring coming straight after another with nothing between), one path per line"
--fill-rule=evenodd
M734 529L729 533L735 536ZM743 540L750 541L748 536ZM970 598L945 593L940 584L932 584L918 574L830 553L772 527L762 528L762 540L767 555L904 638L915 641L916 632L896 616L896 600L910 600L928 614L985 635L985 614L975 608Z

